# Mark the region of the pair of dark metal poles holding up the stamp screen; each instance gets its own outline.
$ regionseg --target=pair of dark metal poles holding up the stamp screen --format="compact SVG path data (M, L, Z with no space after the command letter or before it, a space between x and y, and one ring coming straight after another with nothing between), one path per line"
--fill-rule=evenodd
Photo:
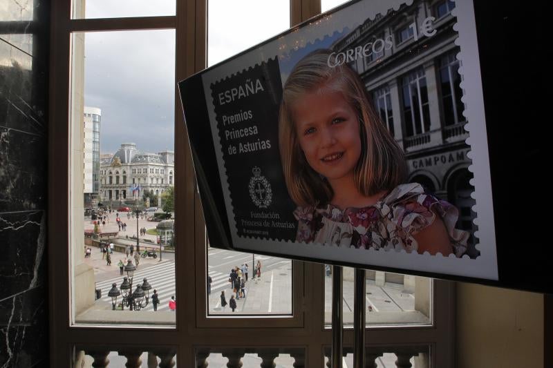
M364 269L355 269L355 294L353 300L353 367L365 365L365 275ZM342 310L342 268L332 266L332 368L342 367L344 328Z

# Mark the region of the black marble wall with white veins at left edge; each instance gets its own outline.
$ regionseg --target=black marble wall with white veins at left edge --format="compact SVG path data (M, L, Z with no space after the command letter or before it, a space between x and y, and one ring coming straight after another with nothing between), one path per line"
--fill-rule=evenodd
M50 3L1 2L0 367L47 367Z

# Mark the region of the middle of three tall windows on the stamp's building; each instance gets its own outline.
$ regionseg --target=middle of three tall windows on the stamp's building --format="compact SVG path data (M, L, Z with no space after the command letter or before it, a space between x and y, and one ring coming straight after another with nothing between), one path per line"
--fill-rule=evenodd
M402 108L406 137L430 130L427 78L422 68L402 78Z

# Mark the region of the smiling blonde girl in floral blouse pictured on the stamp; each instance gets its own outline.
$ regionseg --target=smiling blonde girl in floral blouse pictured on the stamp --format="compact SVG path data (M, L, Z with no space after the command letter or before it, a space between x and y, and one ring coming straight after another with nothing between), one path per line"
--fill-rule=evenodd
M467 249L457 209L404 184L402 150L369 103L357 73L316 50L283 88L279 148L297 241L431 254Z

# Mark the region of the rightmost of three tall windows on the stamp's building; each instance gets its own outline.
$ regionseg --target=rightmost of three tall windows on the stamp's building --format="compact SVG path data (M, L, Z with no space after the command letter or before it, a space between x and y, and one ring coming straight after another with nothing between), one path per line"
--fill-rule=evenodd
M442 109L444 125L454 125L465 122L462 116L464 105L461 101L461 77L459 61L456 58L458 50L440 58L440 92L442 94Z

